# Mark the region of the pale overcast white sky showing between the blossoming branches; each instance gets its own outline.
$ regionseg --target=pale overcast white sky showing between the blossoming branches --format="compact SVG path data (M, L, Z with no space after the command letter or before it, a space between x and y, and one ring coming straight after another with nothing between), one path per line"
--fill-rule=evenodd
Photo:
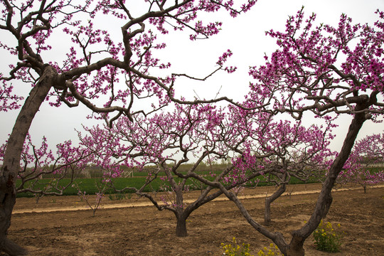
M137 0L136 0L137 1ZM135 1L134 1L135 2ZM139 1L137 1L139 2ZM236 3L236 1L235 1ZM284 31L285 23L289 15L294 15L304 6L306 16L312 12L317 14L318 23L336 25L342 13L353 19L353 23L373 23L377 16L376 9L384 10L383 0L326 0L326 1L287 1L287 0L259 0L257 4L245 14L238 18L232 18L223 12L215 16L202 16L201 19L209 18L212 21L223 21L222 31L216 36L203 41L190 41L187 33L170 33L167 36L159 35L159 39L167 44L167 48L159 51L158 57L165 63L172 64L170 73L187 73L203 78L216 68L218 57L227 49L232 50L233 56L228 65L236 65L238 70L233 74L219 73L206 82L178 80L176 85L176 96L187 99L193 97L214 98L216 96L227 96L233 100L242 100L252 78L248 75L248 68L264 63L265 53L270 55L276 48L274 39L265 36L265 31L273 28L274 31ZM139 10L139 9L138 9ZM111 26L110 22L100 21L100 26ZM119 27L117 25L117 31ZM4 31L0 31L4 33ZM2 35L4 36L4 35ZM117 34L117 36L119 36ZM55 38L53 38L55 40ZM57 38L60 42L60 38ZM54 54L60 58L64 48L55 48ZM0 72L4 73L8 65L2 60ZM15 87L19 87L14 82ZM23 90L26 88L27 90ZM17 88L24 97L28 96L30 87ZM4 143L11 133L18 110L0 112L0 143ZM55 108L44 103L41 110L36 114L30 129L33 142L38 144L43 136L46 136L51 145L58 144L71 139L77 141L75 129L81 130L82 124L90 126L95 121L86 119L90 110L85 107L68 108L65 105ZM343 137L348 129L351 117L347 115L338 119L339 127L336 130L337 137L331 144L332 149L340 149ZM311 124L314 119L306 119L306 124ZM382 132L384 124L373 124L366 122L358 139Z

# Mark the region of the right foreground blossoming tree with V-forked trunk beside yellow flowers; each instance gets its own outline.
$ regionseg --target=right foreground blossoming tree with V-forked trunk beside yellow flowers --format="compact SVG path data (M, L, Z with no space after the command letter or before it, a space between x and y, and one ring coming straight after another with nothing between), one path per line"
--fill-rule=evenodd
M321 23L314 27L316 14L304 18L302 9L289 17L285 31L267 32L276 38L278 49L265 56L265 65L250 68L255 82L250 85L244 106L267 105L266 112L277 116L290 114L297 120L306 119L310 114L326 122L342 114L351 117L343 145L329 167L313 213L301 228L292 232L290 240L257 223L233 193L220 184L210 183L220 187L248 223L270 238L284 255L304 255L304 242L328 213L331 189L361 127L367 120L382 121L384 13L377 11L376 14L378 20L374 26L353 25L351 18L343 14L338 26Z

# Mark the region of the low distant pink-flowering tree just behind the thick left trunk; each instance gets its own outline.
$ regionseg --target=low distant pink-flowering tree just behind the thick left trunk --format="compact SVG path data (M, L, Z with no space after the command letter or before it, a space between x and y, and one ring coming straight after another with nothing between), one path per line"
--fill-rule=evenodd
M20 183L16 186L17 193L32 193L36 202L42 196L62 196L63 191L72 185L78 174L87 168L92 161L92 154L80 146L73 146L70 141L56 145L53 152L43 137L41 146L32 143L27 134L21 154L21 166L18 171ZM0 147L0 161L3 161L6 144ZM43 176L50 176L42 181ZM69 177L64 182L63 178Z

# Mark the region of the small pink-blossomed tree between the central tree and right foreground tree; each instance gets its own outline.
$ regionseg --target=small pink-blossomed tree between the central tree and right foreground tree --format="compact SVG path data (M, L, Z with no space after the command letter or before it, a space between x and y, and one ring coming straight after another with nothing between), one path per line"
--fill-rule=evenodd
M235 111L237 113L238 111ZM246 111L247 112L247 111ZM238 114L235 114L238 115ZM329 167L329 159L334 155L328 148L333 135L332 124L326 122L325 127L312 125L303 127L301 122L279 120L274 122L270 116L260 125L260 113L247 112L239 122L235 119L237 129L252 131L251 135L244 139L247 148L240 153L240 163L247 163L244 168L252 171L263 171L272 168L273 171L265 174L265 181L277 186L277 190L271 196L265 198L265 225L271 222L271 203L284 193L287 184L292 177L306 182L310 178L321 180ZM262 114L265 116L265 114ZM259 119L259 120L257 120ZM246 124L246 125L244 125ZM258 127L257 129L255 127ZM251 128L252 127L252 128ZM242 136L242 135L240 135ZM257 161L246 156L250 150L257 156ZM243 164L243 163L242 163ZM263 181L260 181L263 182Z

